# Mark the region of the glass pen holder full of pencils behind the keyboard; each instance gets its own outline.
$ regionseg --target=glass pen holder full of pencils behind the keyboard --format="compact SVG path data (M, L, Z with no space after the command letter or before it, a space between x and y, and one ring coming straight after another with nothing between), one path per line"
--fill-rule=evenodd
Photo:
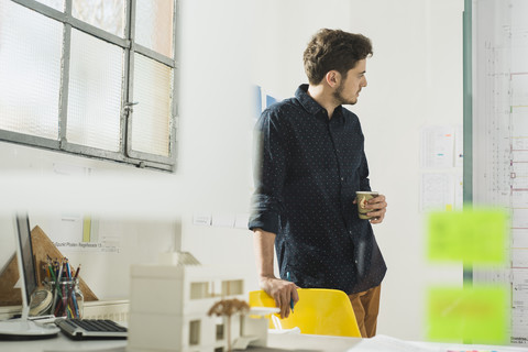
M55 317L82 318L85 297L79 288L79 279L63 277L57 283L46 277L44 285L53 295L51 315Z

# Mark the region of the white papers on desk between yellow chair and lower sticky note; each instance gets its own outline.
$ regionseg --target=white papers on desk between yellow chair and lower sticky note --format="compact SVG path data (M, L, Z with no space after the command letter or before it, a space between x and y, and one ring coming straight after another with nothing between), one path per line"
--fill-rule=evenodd
M362 339L350 352L446 352L446 349L421 345L419 342L408 342L383 334L371 339Z

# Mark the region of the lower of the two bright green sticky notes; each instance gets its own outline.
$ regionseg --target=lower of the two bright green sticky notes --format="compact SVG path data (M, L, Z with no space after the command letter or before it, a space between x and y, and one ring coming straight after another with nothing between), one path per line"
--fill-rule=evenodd
M430 340L507 342L509 319L504 287L431 288L427 311Z

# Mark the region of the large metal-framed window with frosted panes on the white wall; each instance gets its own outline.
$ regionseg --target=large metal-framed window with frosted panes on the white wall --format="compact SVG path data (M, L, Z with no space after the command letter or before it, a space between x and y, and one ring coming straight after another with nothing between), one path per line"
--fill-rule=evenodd
M173 170L176 0L0 0L0 140Z

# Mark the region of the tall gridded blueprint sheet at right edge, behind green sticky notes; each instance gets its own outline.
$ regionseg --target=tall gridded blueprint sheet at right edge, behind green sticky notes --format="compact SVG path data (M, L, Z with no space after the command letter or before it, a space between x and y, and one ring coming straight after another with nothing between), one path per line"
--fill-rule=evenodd
M473 201L509 210L509 263L473 280L509 286L512 342L528 344L526 0L473 0Z

